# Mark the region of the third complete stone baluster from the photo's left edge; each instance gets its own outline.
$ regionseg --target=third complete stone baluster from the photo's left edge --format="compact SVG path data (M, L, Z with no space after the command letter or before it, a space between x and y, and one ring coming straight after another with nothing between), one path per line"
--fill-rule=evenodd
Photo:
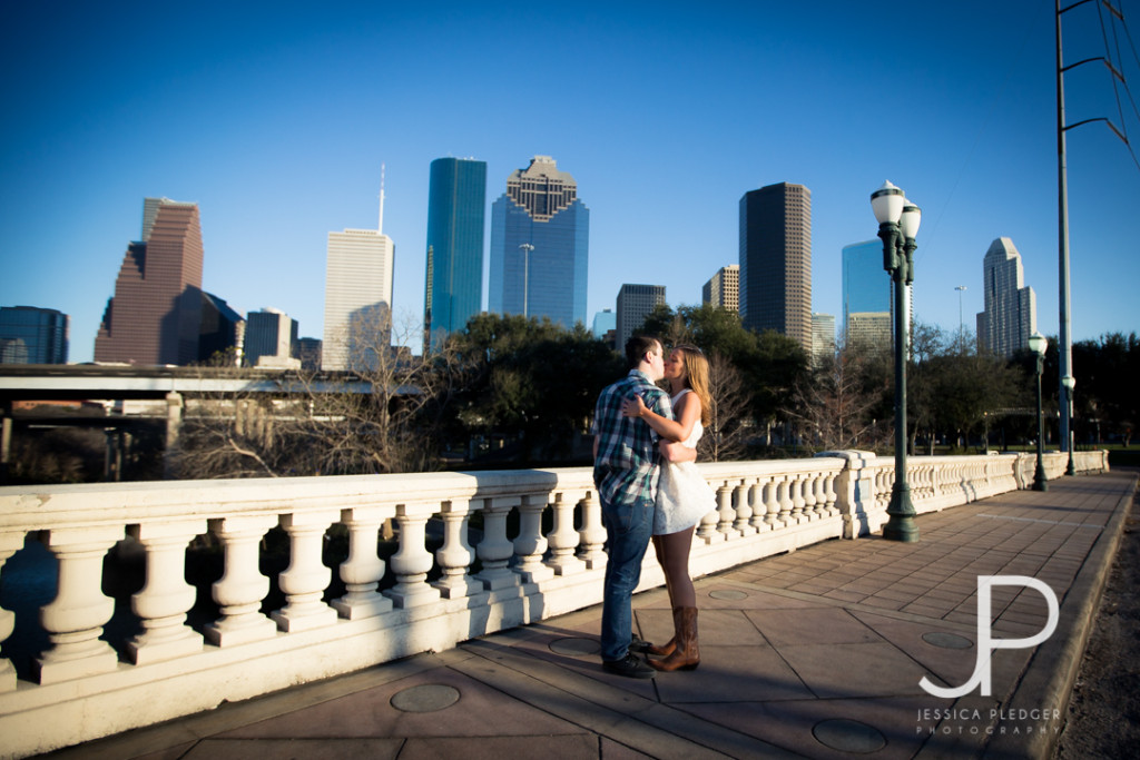
M222 542L226 571L213 585L221 618L203 632L218 646L236 646L277 635L277 624L261 614L269 579L258 563L261 537L277 524L277 515L238 515L210 521L210 531Z

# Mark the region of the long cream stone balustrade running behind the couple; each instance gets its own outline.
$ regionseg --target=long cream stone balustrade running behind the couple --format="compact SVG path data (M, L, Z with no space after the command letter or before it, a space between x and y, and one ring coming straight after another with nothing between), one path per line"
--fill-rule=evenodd
M1047 455L1049 477L1061 476L1067 461L1067 455ZM1035 457L909 463L912 499L923 513L1025 488ZM1078 472L1104 471L1107 453L1078 452L1075 464ZM894 482L893 460L860 451L700 469L717 505L693 541L697 575L877 531ZM386 563L377 553L385 520L398 529ZM276 526L288 538L290 562L276 577L284 604L267 611L261 542ZM332 529L348 539L339 566L345 593L326 604L332 572L323 551ZM185 580L187 547L204 533L222 549L221 578L206 591L218 613L192 627L187 614L199 591ZM17 663L0 660L2 757L47 752L591 606L601 602L605 565L589 468L0 488L0 573L28 536L55 556L58 588L30 616L0 608L0 640L16 626L40 624L50 641ZM114 604L101 590L104 557L124 536L146 555L145 585L131 597L141 632L108 644L100 637ZM661 578L650 551L642 588Z

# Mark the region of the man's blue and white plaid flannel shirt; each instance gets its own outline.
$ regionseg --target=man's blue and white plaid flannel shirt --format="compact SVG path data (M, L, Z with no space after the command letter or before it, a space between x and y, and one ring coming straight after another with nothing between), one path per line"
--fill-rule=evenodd
M594 483L602 500L611 505L657 498L658 435L644 420L621 414L621 402L635 394L642 397L646 407L673 419L669 395L637 369L630 369L597 397L593 425L597 440Z

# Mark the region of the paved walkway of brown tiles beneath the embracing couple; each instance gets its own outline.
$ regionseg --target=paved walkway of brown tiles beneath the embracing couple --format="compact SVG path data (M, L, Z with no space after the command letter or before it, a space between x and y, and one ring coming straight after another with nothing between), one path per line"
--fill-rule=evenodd
M1064 477L918 520L921 540L829 541L697 583L701 665L603 673L600 607L54 753L58 758L1042 758L1061 729L1137 476ZM992 696L978 577L1059 600L1056 631L1002 648ZM662 590L635 597L651 640ZM995 586L994 638L1043 630L1043 594ZM983 655L985 652L982 653Z

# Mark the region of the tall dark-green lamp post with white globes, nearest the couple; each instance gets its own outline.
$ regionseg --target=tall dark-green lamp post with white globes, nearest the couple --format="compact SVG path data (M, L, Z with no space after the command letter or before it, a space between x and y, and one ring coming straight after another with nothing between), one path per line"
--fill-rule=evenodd
M922 212L889 181L871 194L871 210L882 239L882 268L895 284L895 484L890 490L889 518L882 537L910 542L919 540L919 528L914 523L911 487L906 483L906 295L914 281L914 250L918 247L914 237Z

